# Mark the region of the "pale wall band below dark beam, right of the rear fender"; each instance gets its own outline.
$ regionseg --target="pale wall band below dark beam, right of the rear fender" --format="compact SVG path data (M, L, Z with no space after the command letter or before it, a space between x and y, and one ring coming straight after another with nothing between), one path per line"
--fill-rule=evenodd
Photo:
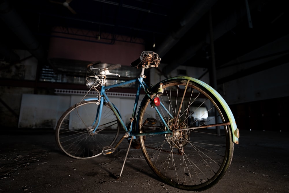
M218 85L218 91L228 104L286 97L289 96L288 72L287 63Z

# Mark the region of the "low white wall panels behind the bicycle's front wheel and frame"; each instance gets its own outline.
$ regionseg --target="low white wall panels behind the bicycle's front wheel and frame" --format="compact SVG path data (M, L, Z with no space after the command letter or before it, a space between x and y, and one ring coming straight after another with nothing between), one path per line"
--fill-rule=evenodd
M118 93L119 94L119 93ZM131 95L130 93L128 93ZM86 98L92 98L88 96ZM140 96L139 104L144 95ZM83 95L34 95L23 94L19 115L18 128L54 128L70 106L78 103ZM134 97L109 96L110 101L120 111L125 124L130 122Z

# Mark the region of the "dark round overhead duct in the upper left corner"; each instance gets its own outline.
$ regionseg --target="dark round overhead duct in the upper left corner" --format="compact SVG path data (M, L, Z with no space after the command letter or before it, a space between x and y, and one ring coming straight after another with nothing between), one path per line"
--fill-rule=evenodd
M11 7L7 0L0 1L0 18L12 30L12 32L23 42L27 50L38 60L44 59L44 51L36 40L21 16Z

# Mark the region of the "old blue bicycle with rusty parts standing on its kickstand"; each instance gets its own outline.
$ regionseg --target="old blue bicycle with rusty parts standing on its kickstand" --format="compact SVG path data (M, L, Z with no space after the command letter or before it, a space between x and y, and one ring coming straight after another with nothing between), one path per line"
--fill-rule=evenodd
M157 53L144 51L131 63L141 69L139 77L108 86L107 76L119 76L109 70L121 65L96 68L100 62L90 63L86 84L88 92L95 90L97 97L84 97L63 113L55 130L56 143L66 155L88 159L113 153L127 139L119 177L132 147L142 150L164 183L182 190L208 189L221 180L231 164L239 138L234 116L219 93L195 78L172 77L148 86L144 71L158 67L160 61ZM132 83L137 84L136 99L125 125L105 91ZM145 96L138 106L141 90ZM116 143L121 127L125 134Z

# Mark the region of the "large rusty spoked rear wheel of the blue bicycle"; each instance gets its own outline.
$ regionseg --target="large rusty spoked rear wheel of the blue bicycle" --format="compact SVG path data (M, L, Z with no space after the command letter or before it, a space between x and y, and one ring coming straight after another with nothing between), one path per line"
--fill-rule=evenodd
M156 93L158 88L159 86L153 87L152 92ZM212 122L218 123L213 121L218 119L221 119L219 122L229 122L223 106L201 84L188 78L179 78L163 81L162 88L164 94L160 96L160 100L173 117L169 117L162 106L157 109L169 127L196 128L198 122L201 122L199 126L205 127L206 124L212 125ZM153 99L153 95L151 98ZM140 106L140 133L166 130L150 103L151 99L145 97ZM192 121L192 112L194 116L198 116L196 120L199 121ZM148 124L148 118L154 118L157 122ZM174 137L166 134L140 136L140 146L148 165L164 183L182 190L201 191L221 180L233 157L234 143L230 125L218 127L219 129L208 127L174 131Z

